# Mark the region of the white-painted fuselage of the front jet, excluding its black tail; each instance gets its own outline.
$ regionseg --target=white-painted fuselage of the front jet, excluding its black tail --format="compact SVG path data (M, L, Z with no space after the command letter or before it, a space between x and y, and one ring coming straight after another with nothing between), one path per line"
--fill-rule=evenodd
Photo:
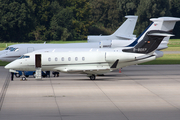
M29 58L17 59L5 66L5 68L21 71L34 71L35 54L41 54L43 71L99 74L120 68L111 68L116 60L119 60L119 64L124 64L126 62L132 64L132 61L136 61L136 57L144 55L124 53L121 49L106 49L104 51L101 49L100 51L97 51L97 49L90 49L91 52L86 52L88 50L89 49L84 49L83 52L36 51L24 55L29 56Z

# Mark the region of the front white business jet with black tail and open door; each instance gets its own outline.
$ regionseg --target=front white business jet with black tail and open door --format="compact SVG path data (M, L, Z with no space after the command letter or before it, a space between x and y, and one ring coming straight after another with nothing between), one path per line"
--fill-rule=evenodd
M35 71L36 67L41 67L43 71L87 74L91 80L95 80L97 74L156 59L155 50L164 37L170 36L172 34L167 31L149 30L138 38L142 40L133 48L102 48L89 51L82 49L72 52L37 51L24 54L5 68Z

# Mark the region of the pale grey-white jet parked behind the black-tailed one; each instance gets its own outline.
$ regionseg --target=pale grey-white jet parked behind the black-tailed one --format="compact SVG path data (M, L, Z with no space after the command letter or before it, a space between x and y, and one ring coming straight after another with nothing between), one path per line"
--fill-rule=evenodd
M70 43L70 44L16 44L8 46L5 50L0 51L0 60L11 62L25 53L29 53L35 50L47 49L47 48L103 48L103 47L115 47L114 43L110 43L114 38L118 44L127 42L127 38L134 41L136 38L133 35L133 31L137 22L137 16L125 16L127 20L115 31L114 34L109 36L91 36L88 37L88 43ZM126 29L125 29L126 28ZM123 35L124 37L117 37L117 35ZM115 44L117 44L117 42ZM131 41L129 41L130 43ZM124 45L124 44L123 44ZM127 43L126 43L127 45ZM119 45L121 46L121 45Z

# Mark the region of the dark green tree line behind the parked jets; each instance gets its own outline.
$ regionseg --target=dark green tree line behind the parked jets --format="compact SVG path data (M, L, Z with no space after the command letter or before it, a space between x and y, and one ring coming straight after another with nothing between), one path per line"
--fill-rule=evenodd
M180 17L180 0L0 0L0 42L80 40L112 34L126 15L137 15L134 34L150 18ZM180 23L176 24L175 35Z

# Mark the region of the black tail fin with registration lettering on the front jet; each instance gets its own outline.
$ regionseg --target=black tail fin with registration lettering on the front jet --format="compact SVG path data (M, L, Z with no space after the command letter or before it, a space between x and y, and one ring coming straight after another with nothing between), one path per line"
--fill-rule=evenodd
M157 49L164 37L173 36L169 32L160 30L148 31L143 39L131 49L123 49L123 52L149 54Z

